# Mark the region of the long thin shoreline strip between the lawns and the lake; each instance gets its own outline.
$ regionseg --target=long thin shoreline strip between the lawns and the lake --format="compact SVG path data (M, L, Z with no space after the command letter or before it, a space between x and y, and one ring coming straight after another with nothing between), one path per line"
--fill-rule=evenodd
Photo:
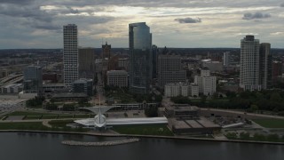
M35 133L54 133L54 134L77 134L77 135L101 136L101 137L131 137L131 138L169 139L169 140L202 140L202 141L231 142L231 143L237 142L237 143L254 143L254 144L268 144L268 145L284 145L284 142L270 142L270 141L216 140L216 139L193 138L193 137L174 137L174 136L138 135L138 134L110 134L110 133L97 133L97 132L54 132L54 131L31 131L31 130L0 130L0 132L35 132Z

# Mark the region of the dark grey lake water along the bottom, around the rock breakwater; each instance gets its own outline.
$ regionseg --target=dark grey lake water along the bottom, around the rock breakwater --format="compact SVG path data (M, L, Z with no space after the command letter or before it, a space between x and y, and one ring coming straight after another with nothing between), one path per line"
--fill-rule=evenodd
M65 146L62 140L105 141L122 138L68 134L0 133L1 160L283 160L284 146L199 140L141 139L107 147Z

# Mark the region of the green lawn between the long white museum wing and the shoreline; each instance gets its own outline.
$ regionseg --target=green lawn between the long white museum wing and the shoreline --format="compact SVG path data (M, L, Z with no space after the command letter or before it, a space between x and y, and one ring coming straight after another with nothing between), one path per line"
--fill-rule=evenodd
M161 135L172 136L169 128L165 124L150 125L118 125L113 126L114 132L121 134L140 134L140 135Z

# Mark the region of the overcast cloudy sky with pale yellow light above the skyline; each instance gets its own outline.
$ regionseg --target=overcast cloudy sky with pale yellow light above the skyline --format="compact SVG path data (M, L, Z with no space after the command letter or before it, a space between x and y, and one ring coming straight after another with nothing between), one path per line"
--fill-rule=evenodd
M62 26L79 45L128 47L128 24L145 21L159 47L240 47L255 35L284 48L282 0L0 0L0 49L62 48Z

